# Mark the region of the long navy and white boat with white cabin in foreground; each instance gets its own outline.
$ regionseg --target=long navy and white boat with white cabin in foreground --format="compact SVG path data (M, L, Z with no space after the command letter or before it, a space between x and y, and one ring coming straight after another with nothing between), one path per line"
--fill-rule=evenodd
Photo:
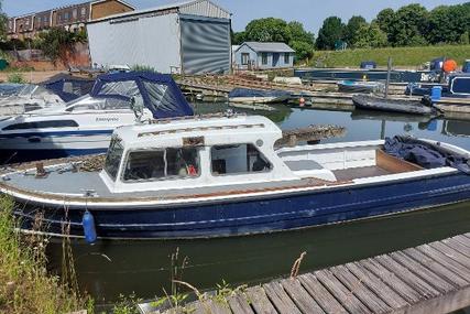
M102 170L23 165L0 176L0 192L23 231L87 241L283 231L470 199L470 152L455 145L396 137L274 149L281 138L259 116L155 120L118 128Z

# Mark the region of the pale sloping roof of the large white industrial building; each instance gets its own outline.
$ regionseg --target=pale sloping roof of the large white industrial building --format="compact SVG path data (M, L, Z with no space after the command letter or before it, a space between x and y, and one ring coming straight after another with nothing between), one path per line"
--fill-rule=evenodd
M124 13L119 13L119 14L114 14L114 15L109 15L109 17L106 17L102 19L97 19L95 21L90 21L89 24L102 22L102 21L108 21L108 20L113 20L113 19L120 19L120 18L132 18L132 17L136 17L136 15L142 15L142 14L156 13L156 12L167 11L167 10L172 10L172 9L183 10L183 9L190 8L190 7L200 4L200 3L208 3L214 9L220 11L227 18L231 15L231 13L229 11L227 11L227 10L222 9L221 7L215 4L212 1L209 1L209 0L188 0L188 1L173 2L173 3L168 3L168 4L164 4L164 6L149 8L149 9L142 9L142 10L135 10L135 11L131 11L131 12L124 12ZM210 11L214 14L214 10L210 10ZM214 18L216 18L216 17L214 17Z

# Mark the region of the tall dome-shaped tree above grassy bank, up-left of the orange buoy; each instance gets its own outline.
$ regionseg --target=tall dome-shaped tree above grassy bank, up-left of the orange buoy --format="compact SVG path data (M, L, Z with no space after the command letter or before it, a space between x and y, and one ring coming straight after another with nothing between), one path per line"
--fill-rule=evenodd
M424 36L428 30L428 12L420 4L408 4L400 8L394 14L389 40L395 46L425 45Z

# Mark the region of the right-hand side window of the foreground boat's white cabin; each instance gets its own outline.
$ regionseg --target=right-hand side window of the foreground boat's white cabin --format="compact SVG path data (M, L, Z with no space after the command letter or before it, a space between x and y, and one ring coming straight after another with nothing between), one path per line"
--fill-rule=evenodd
M253 144L216 145L210 156L215 175L263 172L272 167Z

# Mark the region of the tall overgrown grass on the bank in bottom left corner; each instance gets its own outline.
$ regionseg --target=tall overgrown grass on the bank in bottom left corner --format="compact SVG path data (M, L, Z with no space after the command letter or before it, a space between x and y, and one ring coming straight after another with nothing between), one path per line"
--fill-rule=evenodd
M47 240L15 232L12 208L12 201L0 196L0 313L56 314L86 308L86 299L47 273Z

